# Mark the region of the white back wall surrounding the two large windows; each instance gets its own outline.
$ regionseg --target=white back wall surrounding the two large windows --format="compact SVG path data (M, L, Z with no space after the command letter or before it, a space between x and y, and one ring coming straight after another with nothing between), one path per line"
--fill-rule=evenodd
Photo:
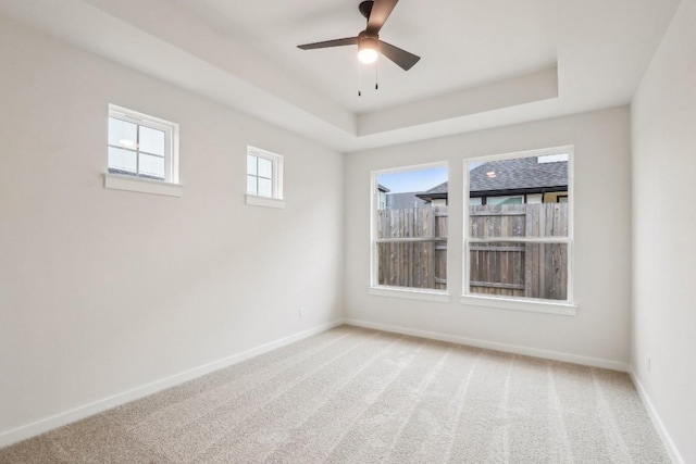
M577 314L462 305L459 296L463 160L567 145L575 147ZM434 303L369 294L371 171L437 161L449 163L451 301ZM627 108L351 153L346 156L345 184L347 318L588 364L626 367L631 274Z

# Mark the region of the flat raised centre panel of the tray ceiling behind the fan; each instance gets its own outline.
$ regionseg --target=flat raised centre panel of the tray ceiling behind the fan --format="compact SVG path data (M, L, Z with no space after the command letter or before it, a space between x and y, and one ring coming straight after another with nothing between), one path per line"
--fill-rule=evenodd
M365 27L358 11L360 1L177 2L220 34L243 41L356 113L556 64L556 0L401 1L380 38L421 57L408 72L385 58L376 66L359 68L352 46L310 51L297 48L357 36Z

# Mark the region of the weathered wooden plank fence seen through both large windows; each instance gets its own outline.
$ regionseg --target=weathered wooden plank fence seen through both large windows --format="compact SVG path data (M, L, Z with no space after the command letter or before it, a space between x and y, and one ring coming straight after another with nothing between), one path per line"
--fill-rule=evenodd
M470 206L470 291L549 300L568 292L568 203ZM381 210L380 285L445 289L447 206Z

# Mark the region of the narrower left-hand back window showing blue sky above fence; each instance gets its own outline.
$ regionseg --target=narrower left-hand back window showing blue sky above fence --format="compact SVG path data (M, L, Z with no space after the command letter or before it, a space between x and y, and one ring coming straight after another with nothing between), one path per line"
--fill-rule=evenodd
M447 166L375 172L372 177L372 287L444 292Z

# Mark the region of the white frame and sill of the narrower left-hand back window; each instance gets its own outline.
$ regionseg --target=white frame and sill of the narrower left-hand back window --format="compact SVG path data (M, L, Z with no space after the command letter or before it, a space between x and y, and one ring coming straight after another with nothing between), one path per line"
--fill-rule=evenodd
M368 286L368 293L380 297L394 297L406 298L411 300L433 301L440 303L448 303L450 300L449 288L447 290L434 290L427 288L412 288L412 287L391 287L378 284L380 272L377 269L377 224L375 221L377 210L380 209L380 188L377 185L377 178L381 174L387 173L407 173L410 171L430 170L434 167L447 167L449 173L449 163L447 161L440 161L435 163L413 164L409 166L400 166L396 168L375 170L371 173L371 186L370 186L370 285ZM448 228L449 228L448 223ZM447 231L448 242L450 238L450 231ZM448 247L449 252L449 247ZM447 275L449 276L449 262Z

